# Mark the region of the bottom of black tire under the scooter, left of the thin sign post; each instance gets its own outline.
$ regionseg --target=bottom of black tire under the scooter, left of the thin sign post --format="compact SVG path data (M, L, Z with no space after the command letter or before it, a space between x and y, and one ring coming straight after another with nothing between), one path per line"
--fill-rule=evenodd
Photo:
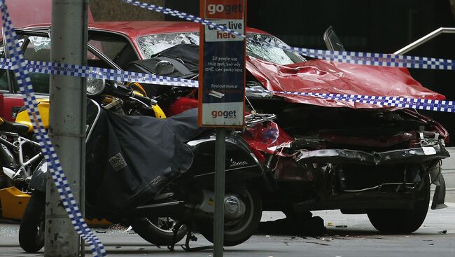
M155 245L170 245L174 239L174 232L172 232L173 225L176 222L167 220L167 218L134 218L130 221L134 232L144 238L147 242ZM188 228L183 225L179 232L177 232L176 242L179 242L185 237Z

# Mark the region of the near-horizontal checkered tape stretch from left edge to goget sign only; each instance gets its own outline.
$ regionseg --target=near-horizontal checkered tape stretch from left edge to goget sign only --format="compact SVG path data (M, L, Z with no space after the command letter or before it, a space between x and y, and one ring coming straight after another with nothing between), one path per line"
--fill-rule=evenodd
M197 88L197 81L167 76L156 76L151 74L140 74L133 71L119 71L116 69L104 69L82 65L58 64L28 60L25 60L24 64L25 68L29 72L34 73L77 76L83 78L102 78L112 81L151 83L156 85L180 85L190 88ZM8 59L0 58L0 69L13 69L13 62L10 62Z

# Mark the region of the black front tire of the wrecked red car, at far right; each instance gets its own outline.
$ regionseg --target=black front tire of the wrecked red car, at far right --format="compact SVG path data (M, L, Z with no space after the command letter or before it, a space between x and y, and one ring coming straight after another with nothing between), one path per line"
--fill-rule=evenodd
M426 176L423 183L421 190L416 193L414 209L368 210L368 218L374 228L387 234L409 234L418 230L428 212L430 176Z

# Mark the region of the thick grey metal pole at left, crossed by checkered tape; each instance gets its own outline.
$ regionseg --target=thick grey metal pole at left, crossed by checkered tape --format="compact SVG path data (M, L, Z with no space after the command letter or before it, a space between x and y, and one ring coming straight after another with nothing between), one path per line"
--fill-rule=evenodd
M52 0L51 62L79 65L87 62L87 6L88 0ZM50 76L49 134L81 209L85 101L85 78ZM45 211L44 256L79 256L79 237L50 178Z

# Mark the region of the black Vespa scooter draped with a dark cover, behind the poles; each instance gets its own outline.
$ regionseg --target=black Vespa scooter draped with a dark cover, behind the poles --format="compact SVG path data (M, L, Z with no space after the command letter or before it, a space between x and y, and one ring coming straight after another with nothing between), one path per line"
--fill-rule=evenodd
M87 97L86 217L131 225L171 249L187 235L189 250L194 231L213 242L215 134L197 126L197 111L151 117L155 101L113 81L91 81ZM131 104L144 106L134 110L141 115L123 114ZM260 223L261 199L252 185L262 166L239 132L226 137L225 162L224 245L234 246ZM29 179L33 190L19 231L27 252L43 246L47 172L41 160Z

